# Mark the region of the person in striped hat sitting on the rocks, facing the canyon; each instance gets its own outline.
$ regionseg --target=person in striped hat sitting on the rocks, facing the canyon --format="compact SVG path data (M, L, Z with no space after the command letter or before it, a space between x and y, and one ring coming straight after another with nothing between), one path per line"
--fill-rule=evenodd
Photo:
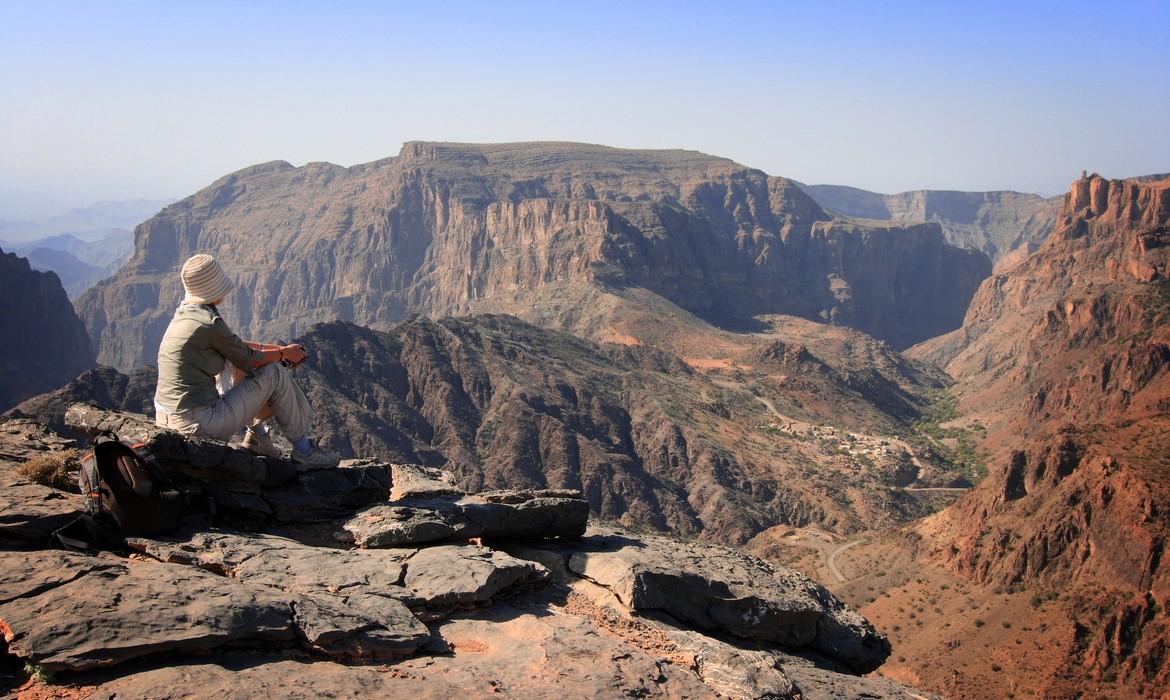
M336 465L336 454L310 442L312 409L284 366L304 362L304 348L246 343L236 337L216 309L232 289L232 281L211 255L188 259L181 279L186 296L158 349L154 421L181 433L223 441L246 427L246 448L280 457L263 423L271 414L292 442L294 461ZM239 370L238 380L220 396L215 377L227 363Z

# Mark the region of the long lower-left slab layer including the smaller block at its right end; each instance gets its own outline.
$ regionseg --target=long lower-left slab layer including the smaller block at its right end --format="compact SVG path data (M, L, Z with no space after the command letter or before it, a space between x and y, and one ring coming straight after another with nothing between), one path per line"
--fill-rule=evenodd
M246 565L247 562L245 562ZM83 671L163 651L300 640L346 659L408 656L431 633L399 601L296 591L111 555L4 553L0 630L12 653ZM259 577L257 577L259 578Z

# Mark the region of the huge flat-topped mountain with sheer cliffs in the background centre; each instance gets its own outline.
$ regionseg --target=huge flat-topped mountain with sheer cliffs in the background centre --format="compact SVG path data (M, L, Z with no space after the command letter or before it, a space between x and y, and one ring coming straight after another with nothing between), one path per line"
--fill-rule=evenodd
M723 327L783 313L906 346L957 327L990 273L936 225L835 220L790 180L701 153L412 143L350 169L254 166L144 222L131 261L78 302L103 363L153 359L197 251L236 281L239 330L268 338L525 316L549 287L589 286L647 289ZM589 325L581 309L541 321Z

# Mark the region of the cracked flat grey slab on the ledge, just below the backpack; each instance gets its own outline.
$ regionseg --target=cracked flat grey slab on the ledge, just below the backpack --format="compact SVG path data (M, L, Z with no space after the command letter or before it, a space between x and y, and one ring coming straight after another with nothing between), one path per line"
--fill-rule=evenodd
M410 615L404 604L432 612L483 604L500 591L548 576L538 563L472 544L346 550L214 530L186 540L136 538L130 545L166 562L202 567L243 582L331 595L366 616L392 615L383 620L386 626L397 626L404 611ZM421 624L419 629L425 631Z

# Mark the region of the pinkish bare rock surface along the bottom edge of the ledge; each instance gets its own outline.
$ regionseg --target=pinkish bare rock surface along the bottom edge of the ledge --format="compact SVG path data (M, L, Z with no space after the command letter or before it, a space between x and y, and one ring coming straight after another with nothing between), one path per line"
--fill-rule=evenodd
M447 620L440 632L454 653L383 668L277 658L180 665L111 679L90 698L711 696L694 673L572 616L500 605Z

